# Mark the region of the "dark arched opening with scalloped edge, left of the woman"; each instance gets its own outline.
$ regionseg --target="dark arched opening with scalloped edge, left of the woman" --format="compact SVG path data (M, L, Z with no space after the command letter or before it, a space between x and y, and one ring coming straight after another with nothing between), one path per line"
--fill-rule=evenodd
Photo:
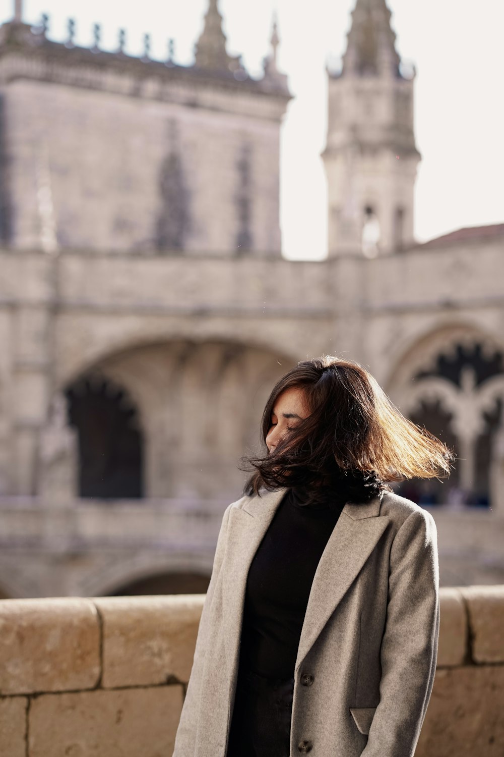
M138 411L124 388L102 375L66 388L69 423L79 438L79 496L143 496L143 438Z

